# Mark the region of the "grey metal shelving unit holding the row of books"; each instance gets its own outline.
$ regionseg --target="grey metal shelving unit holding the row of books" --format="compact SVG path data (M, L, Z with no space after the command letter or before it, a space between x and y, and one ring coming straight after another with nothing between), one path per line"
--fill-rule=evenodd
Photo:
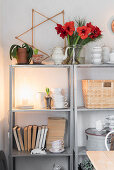
M68 93L69 93L69 101L70 106L68 109L16 109L15 108L15 69L16 68L65 68L68 72ZM10 170L16 170L16 159L22 157L68 157L68 170L73 170L73 149L74 149L74 111L73 111L73 66L72 65L10 65L9 67L10 73L10 103L9 103L9 113L10 113L10 121L9 121L9 168ZM63 153L53 154L47 152L46 155L31 155L29 152L19 152L14 149L13 146L13 131L12 128L15 126L15 115L17 112L51 112L56 114L56 112L65 112L68 114L69 125L67 128L69 132L68 139L68 147L65 148ZM21 115L20 115L21 117Z

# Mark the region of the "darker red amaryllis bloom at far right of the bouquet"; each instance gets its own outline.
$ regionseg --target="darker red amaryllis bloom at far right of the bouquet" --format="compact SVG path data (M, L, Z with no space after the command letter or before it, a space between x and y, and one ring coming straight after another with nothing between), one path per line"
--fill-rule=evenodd
M97 38L99 35L101 35L101 30L99 27L95 26L91 30L91 35L89 35L90 38L94 39Z

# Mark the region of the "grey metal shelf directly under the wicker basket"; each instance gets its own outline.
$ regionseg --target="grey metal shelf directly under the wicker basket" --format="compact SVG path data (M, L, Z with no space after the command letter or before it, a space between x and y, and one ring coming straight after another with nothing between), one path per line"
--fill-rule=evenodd
M102 109L87 109L84 106L78 106L77 111L79 112L85 112L85 111L114 111L114 108L102 108Z

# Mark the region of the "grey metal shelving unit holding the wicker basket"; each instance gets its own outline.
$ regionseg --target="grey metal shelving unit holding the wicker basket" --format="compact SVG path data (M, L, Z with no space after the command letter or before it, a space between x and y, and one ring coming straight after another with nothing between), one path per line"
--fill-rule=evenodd
M78 160L79 156L87 156L86 155L86 147L85 146L78 146L78 114L80 112L83 112L86 114L86 112L95 112L95 111L114 111L114 108L101 108L101 109L87 109L84 106L78 106L77 105L77 90L78 90L78 69L86 69L86 68L97 68L97 69L114 69L114 64L101 64L101 65L95 65L95 64L81 64L81 65L74 65L74 116L75 116L75 145L74 145L74 151L75 151L75 170L78 170ZM98 75L99 76L99 75Z

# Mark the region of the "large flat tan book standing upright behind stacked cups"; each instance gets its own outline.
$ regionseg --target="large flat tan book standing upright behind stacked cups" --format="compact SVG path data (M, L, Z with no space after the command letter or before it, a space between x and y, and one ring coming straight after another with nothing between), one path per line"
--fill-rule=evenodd
M66 119L64 118L48 118L48 134L46 140L47 150L51 149L52 142L56 140L64 141Z

